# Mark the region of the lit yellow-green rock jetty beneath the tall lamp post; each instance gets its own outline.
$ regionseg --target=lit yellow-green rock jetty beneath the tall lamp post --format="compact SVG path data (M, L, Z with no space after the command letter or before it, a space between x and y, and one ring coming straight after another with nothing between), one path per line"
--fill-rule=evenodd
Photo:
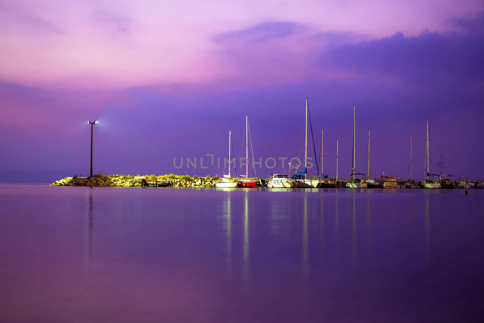
M132 175L104 175L99 173L92 177L66 177L51 184L51 186L113 186L113 187L141 187L145 181L170 182L172 187L215 187L218 177L190 177L175 174L155 176L132 176ZM236 182L236 179L233 179Z

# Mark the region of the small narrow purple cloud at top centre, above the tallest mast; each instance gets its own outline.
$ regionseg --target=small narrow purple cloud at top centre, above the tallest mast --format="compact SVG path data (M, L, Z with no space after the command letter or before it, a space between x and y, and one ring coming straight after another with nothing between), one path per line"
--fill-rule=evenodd
M304 29L304 25L295 22L265 22L247 29L217 34L213 37L213 41L216 43L230 41L263 42L287 37Z

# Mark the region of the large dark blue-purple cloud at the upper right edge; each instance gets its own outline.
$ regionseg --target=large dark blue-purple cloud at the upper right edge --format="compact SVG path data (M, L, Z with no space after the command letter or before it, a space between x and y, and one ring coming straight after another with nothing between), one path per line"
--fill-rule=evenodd
M376 72L415 82L482 82L484 80L484 34L425 31L407 37L390 37L346 44L325 53L325 66Z

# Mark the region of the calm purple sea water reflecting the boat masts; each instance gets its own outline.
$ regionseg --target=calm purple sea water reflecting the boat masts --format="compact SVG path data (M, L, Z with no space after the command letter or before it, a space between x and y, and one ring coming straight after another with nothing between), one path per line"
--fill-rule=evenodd
M0 322L482 322L483 198L0 185Z

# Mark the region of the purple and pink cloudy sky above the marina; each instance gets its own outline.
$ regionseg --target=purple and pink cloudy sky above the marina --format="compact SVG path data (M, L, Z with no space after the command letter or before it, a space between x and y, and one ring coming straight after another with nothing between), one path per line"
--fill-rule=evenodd
M257 159L302 157L306 97L330 177L355 103L358 171L371 127L370 174L407 178L411 135L422 179L428 119L430 171L484 178L484 1L163 2L0 0L4 181L88 175L89 119L94 172L221 173L173 158L240 157L246 113Z

